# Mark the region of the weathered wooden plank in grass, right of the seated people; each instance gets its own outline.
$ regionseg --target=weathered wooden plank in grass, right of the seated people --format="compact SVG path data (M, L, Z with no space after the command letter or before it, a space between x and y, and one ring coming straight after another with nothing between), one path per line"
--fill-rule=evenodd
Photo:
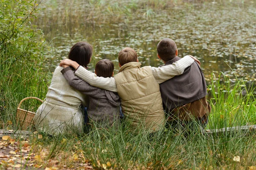
M222 129L208 129L205 130L204 134L225 134L229 132L238 132L238 131L256 131L256 124L247 125L247 126L236 126L236 127L226 127Z

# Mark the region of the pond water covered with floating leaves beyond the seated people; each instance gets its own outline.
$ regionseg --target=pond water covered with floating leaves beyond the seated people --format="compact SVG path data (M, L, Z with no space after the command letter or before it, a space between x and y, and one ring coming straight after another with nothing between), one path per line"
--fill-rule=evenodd
M157 43L169 37L177 43L179 57L190 54L201 61L207 82L212 73L217 76L221 72L230 81L236 80L235 75L256 81L255 0L184 3L164 10L141 10L144 9L120 20L114 20L113 15L102 18L102 22L100 19L77 22L73 17L60 24L51 21L54 11L47 8L35 23L51 46L46 55L49 69L53 72L78 41L93 45L90 70L97 61L108 58L114 62L116 74L118 52L127 46L137 51L142 66L159 66L163 62L157 59Z

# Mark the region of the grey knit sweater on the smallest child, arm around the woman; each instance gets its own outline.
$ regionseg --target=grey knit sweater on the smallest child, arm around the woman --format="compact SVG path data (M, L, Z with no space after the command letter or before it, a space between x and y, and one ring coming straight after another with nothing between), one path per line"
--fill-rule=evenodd
M90 86L74 75L71 67L61 70L68 84L89 97L88 116L100 127L111 126L119 119L120 98L116 92Z

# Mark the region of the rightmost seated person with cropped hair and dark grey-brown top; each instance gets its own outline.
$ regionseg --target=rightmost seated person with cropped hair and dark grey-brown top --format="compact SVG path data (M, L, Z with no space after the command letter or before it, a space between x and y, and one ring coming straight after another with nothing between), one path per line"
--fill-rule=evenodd
M169 38L165 38L157 45L159 58L170 65L180 58L177 57L177 46ZM206 96L207 85L204 74L194 62L186 68L182 75L177 75L160 84L160 92L163 100L163 108L169 113L169 121L190 121L199 119L202 124L207 123L211 110Z

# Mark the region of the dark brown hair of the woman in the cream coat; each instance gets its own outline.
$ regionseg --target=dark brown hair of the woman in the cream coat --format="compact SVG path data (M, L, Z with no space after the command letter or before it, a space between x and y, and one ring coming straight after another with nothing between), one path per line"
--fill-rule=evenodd
M78 42L73 45L68 53L70 60L76 61L79 65L87 67L93 55L93 47L87 42Z

